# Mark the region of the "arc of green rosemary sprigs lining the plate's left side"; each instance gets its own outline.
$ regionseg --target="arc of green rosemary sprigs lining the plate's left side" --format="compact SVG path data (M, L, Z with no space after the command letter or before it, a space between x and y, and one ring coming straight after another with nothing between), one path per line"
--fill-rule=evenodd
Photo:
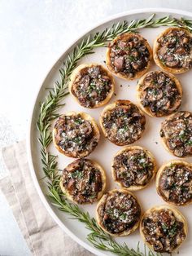
M59 117L57 111L63 106L62 101L68 95L68 81L69 77L78 61L85 55L93 54L94 48L107 46L107 43L111 39L116 38L121 33L137 32L142 28L157 28L160 26L178 26L181 28L192 31L192 20L185 20L181 18L177 20L166 16L164 18L156 19L155 14L151 15L146 20L132 20L131 22L123 21L117 24L113 24L111 28L105 29L101 33L95 33L93 36L89 36L78 44L71 54L63 63L63 68L59 69L60 81L55 82L55 86L49 91L46 99L41 103L40 114L37 121L37 130L39 130L39 143L41 145L41 163L42 169L47 178L47 185L50 192L50 199L59 210L68 213L72 218L76 218L81 223L85 223L90 231L87 236L88 241L98 249L110 251L117 255L130 255L130 256L157 256L151 250L146 253L142 253L137 245L137 249L129 249L129 246L125 243L123 245L118 244L111 236L98 226L94 218L89 216L89 213L85 213L78 205L74 205L63 196L59 188L59 170L57 168L57 157L52 155L48 147L52 142L52 133L50 130L52 121Z

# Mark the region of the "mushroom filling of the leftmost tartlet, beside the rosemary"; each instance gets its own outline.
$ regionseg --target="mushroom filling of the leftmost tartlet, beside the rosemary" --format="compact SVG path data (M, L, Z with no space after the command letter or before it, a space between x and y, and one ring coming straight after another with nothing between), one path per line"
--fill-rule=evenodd
M72 152L77 157L78 153L92 152L98 144L98 138L94 137L94 127L80 114L59 117L55 129L57 130L55 139L59 147L65 152Z

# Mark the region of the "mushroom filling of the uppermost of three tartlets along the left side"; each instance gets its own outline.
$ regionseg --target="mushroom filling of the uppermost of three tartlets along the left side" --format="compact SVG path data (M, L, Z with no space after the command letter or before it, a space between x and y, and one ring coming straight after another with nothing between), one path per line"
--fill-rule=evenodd
M72 94L82 106L93 108L107 98L111 92L111 78L101 66L83 68L72 86Z

